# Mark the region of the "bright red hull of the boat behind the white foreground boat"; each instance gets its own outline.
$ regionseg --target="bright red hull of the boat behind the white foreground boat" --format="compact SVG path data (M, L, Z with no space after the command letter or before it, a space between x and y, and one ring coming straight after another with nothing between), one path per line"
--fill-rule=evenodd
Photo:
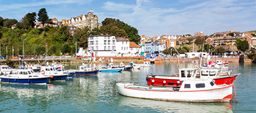
M238 76L238 74L233 75L233 76L220 76L218 78L213 78L213 80L215 81L216 85L232 84L233 80L236 80L237 76ZM152 82L152 80L154 80L154 82ZM179 77L168 79L168 78L164 78L164 77L163 78L154 78L154 77L150 78L149 76L147 76L146 81L147 81L147 85L153 85L153 86L181 86L183 80L180 80ZM179 81L180 83L178 84L177 81Z

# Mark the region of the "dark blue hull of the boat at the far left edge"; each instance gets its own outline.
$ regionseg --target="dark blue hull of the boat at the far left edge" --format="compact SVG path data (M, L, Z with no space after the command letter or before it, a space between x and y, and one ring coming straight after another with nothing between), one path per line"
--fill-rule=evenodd
M12 84L46 84L48 78L0 78L0 81Z

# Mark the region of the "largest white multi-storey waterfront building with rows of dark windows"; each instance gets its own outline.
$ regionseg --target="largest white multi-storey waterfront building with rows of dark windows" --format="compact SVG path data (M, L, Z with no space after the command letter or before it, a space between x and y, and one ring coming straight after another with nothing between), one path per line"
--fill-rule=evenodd
M88 36L88 54L91 54L91 57L115 57L117 54L116 46L115 36Z

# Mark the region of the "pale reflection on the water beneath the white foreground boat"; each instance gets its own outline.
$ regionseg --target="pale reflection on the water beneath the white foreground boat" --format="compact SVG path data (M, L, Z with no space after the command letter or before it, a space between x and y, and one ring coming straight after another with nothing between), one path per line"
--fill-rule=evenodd
M232 112L230 103L188 103L173 101L156 101L118 96L119 106L129 106L135 110L152 110L156 112ZM125 109L124 109L125 110Z

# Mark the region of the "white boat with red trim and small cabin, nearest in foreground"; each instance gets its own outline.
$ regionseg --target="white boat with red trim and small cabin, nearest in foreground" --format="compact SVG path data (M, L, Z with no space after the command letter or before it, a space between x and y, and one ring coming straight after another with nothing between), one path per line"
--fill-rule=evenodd
M180 87L135 86L117 83L119 94L166 101L227 102L232 98L233 85L216 85L212 78L184 80Z

